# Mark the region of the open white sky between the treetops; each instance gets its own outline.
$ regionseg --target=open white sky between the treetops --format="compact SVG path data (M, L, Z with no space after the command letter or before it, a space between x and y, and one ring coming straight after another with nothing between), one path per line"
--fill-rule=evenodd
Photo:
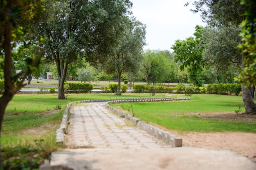
M190 0L131 0L132 12L137 20L146 24L144 49L171 50L176 39L184 40L193 36L195 26L205 24L199 14L184 7Z

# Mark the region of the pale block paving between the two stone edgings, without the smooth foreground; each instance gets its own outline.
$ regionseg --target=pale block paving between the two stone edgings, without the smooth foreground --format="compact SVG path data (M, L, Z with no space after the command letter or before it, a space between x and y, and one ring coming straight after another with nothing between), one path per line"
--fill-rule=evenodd
M86 103L70 109L72 145L88 148L169 148L145 131L110 113L104 102Z

